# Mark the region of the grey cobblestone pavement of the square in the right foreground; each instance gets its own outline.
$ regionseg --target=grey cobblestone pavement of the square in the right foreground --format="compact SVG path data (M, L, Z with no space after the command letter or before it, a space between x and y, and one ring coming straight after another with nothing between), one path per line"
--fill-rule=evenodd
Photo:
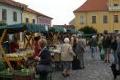
M72 71L68 78L64 78L61 72L52 74L53 80L113 80L110 64L100 61L98 54L96 59L90 57L90 53L85 54L85 69ZM118 78L117 80L120 80Z

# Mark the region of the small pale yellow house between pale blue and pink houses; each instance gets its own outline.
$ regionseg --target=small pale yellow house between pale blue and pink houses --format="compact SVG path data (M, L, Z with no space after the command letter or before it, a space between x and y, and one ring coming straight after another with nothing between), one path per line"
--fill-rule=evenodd
M39 13L30 9L30 8L26 8L23 11L22 14L22 22L23 23L34 23L37 24L37 17L38 17Z

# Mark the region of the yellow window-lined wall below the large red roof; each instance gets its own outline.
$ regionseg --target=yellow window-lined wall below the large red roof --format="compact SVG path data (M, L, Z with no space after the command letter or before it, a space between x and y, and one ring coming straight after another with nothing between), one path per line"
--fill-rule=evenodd
M80 24L80 16L84 16L85 23ZM108 23L103 23L103 16L108 16ZM119 15L119 23L113 22L113 16ZM96 16L96 23L92 23L92 16ZM77 29L80 29L84 26L92 26L97 29L98 32L104 32L104 30L108 30L109 32L113 32L114 30L120 30L120 12L81 12L75 13L75 24Z

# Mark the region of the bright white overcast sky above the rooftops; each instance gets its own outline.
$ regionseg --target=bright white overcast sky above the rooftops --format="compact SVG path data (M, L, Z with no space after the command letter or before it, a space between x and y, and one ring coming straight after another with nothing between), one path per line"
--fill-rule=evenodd
M53 25L64 25L75 17L73 11L86 0L15 0L24 3L29 8L52 17Z

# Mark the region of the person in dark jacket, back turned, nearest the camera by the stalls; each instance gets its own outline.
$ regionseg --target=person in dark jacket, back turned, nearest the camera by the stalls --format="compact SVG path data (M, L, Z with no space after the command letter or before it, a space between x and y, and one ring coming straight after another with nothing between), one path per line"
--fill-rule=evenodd
M38 65L36 66L36 72L40 76L40 80L47 80L48 74L51 71L51 54L47 48L47 40L41 39L41 51L39 56L36 57Z

